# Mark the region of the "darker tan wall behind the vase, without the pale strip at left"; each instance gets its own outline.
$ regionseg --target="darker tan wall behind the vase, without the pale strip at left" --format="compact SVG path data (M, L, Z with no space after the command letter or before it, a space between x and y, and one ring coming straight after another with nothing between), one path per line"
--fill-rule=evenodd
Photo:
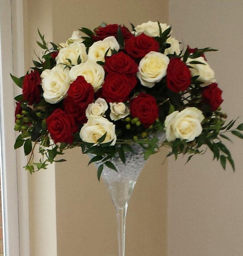
M53 40L62 42L81 26L94 28L101 22L140 24L168 21L167 1L55 0ZM137 8L139 6L139 9ZM156 6L156 8L155 8ZM65 154L67 163L57 164L58 256L116 255L115 209L94 166L80 149ZM138 179L127 214L127 255L166 255L165 153L152 157Z

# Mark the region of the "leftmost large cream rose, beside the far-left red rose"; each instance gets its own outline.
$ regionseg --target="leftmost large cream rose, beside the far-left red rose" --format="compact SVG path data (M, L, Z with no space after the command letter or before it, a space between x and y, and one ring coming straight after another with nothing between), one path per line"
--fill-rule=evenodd
M41 74L43 97L51 104L58 103L66 97L71 78L69 69L65 65L57 65L51 70L45 70Z

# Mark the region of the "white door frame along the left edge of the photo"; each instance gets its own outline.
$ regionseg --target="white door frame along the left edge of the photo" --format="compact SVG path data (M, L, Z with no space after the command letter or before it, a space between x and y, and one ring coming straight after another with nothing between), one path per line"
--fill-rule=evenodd
M14 150L14 96L10 78L24 74L22 0L0 1L0 129L3 243L5 256L29 256L28 179L26 161ZM17 161L18 159L18 161ZM19 171L18 171L19 169ZM22 169L22 170L21 170Z

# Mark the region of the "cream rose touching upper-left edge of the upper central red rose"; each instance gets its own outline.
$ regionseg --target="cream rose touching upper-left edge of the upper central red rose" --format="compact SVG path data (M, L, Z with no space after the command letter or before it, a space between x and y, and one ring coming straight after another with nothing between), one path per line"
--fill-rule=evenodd
M105 53L108 51L107 56L112 55L111 49L118 51L120 45L115 36L108 36L102 41L98 41L92 44L89 48L88 57L93 61L105 61Z

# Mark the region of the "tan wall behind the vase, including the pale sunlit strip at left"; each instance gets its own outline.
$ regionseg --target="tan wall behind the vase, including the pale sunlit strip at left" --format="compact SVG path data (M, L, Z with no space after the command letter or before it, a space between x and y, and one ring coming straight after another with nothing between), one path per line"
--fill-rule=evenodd
M35 44L38 27L47 40L59 43L73 30L94 28L103 21L125 25L168 22L167 0L25 0L24 4L26 67L35 58L32 49L39 51ZM131 197L128 255L167 255L167 171L166 164L161 165L165 155L160 152L151 157ZM80 149L67 151L65 159L56 164L55 176L52 165L29 177L31 256L117 254L115 209L104 183L98 182L94 166L87 167L88 159Z

